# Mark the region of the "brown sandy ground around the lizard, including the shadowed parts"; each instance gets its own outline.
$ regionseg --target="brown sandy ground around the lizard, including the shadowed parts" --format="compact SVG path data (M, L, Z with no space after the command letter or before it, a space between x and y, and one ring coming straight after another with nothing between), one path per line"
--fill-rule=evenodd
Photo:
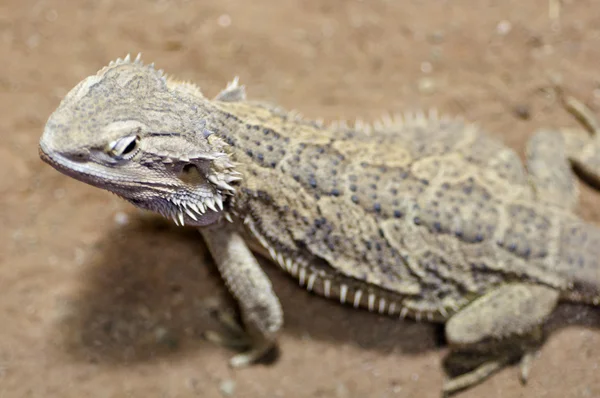
M438 107L522 154L576 125L549 76L600 109L600 3L564 0L0 2L0 397L437 397L439 329L355 312L266 264L286 325L270 365L233 371L201 339L226 300L195 231L141 217L42 164L50 112L127 52L214 95L311 117ZM580 214L600 222L583 186ZM597 397L600 317L564 307L522 387L507 368L461 397ZM589 326L589 327L588 327Z

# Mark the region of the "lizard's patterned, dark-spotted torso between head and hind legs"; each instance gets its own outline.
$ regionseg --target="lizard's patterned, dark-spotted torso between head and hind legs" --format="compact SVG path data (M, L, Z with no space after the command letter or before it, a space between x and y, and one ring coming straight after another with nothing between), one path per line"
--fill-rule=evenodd
M516 153L475 126L417 113L325 128L217 107L245 175L237 213L309 289L436 319L511 279L567 288L553 247L569 216L536 202Z

